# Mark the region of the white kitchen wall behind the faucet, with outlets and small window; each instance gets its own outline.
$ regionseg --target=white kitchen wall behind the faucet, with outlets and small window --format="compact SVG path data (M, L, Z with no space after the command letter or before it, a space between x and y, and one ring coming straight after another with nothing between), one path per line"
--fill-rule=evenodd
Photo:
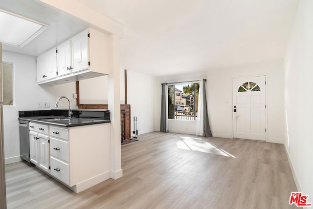
M61 95L72 98L76 91L75 83L58 86L40 86L36 83L36 57L2 51L2 62L12 63L15 77L15 106L3 107L4 158L5 164L20 161L19 111L54 108ZM38 108L37 102L50 102L48 108ZM67 102L67 101L64 101ZM72 107L77 108L72 99ZM68 103L61 103L59 108L68 108Z

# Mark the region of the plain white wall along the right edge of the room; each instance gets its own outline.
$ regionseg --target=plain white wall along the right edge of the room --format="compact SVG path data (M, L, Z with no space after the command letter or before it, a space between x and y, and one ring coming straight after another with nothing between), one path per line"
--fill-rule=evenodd
M301 0L285 56L286 121L284 144L299 191L313 202L313 1Z

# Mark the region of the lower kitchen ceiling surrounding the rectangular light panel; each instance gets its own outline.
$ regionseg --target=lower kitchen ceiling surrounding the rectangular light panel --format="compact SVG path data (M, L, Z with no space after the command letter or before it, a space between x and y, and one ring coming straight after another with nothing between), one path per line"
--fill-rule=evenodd
M0 0L0 8L49 25L36 39L22 48L2 44L3 50L21 54L37 57L79 32L94 27L39 0Z

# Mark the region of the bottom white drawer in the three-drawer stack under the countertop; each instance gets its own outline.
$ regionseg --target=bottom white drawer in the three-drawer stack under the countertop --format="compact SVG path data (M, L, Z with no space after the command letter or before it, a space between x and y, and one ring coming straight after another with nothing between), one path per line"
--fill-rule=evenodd
M57 179L69 185L69 164L53 156L50 157L50 173Z

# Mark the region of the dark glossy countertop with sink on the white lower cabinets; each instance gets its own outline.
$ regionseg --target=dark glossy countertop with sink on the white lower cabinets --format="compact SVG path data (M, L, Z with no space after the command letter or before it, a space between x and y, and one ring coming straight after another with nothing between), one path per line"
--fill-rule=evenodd
M67 116L68 110L63 109L19 111L19 120L66 127L111 123L109 110L79 109L72 111L74 117L70 119Z

